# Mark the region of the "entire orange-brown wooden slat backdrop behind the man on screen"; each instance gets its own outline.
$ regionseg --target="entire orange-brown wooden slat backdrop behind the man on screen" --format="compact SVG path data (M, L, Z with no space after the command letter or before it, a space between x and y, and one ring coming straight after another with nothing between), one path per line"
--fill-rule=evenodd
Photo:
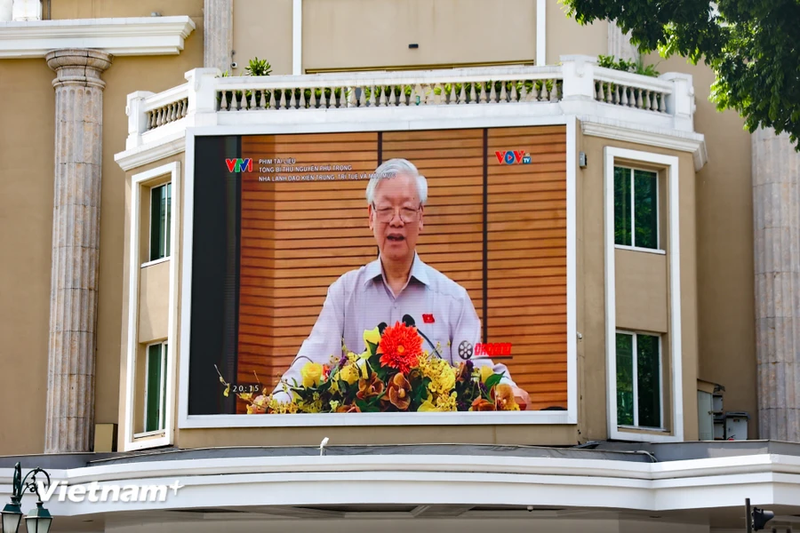
M376 133L243 137L255 168L242 175L240 382L255 372L277 383L328 285L376 257L366 181L259 183L258 160L294 157L296 165L369 173L377 148ZM525 150L533 162L500 165L497 150ZM535 409L566 407L566 130L490 129L487 151L487 340L513 344L506 363ZM382 155L405 157L428 178L417 249L468 290L483 320L483 130L387 132Z

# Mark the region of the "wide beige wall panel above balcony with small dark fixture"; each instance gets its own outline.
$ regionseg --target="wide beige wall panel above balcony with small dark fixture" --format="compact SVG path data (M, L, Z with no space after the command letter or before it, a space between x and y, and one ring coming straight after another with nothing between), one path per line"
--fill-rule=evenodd
M419 44L411 50L408 45ZM531 0L304 0L303 68L533 60Z

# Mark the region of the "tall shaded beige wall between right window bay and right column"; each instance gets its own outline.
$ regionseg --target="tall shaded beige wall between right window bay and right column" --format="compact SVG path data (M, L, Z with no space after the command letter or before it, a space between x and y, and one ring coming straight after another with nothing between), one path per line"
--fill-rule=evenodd
M709 101L714 74L708 67L677 57L647 60L660 72L694 77L695 129L705 135L709 159L695 188L698 377L725 387L725 410L750 413L749 438L757 438L750 134L736 112L718 112Z

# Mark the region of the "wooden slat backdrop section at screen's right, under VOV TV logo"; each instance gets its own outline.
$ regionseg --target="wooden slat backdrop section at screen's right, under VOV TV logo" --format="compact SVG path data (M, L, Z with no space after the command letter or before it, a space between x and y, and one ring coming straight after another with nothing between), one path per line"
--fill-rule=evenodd
M512 343L511 376L534 409L567 407L567 145L564 126L488 134L488 339ZM525 150L530 165L496 151Z

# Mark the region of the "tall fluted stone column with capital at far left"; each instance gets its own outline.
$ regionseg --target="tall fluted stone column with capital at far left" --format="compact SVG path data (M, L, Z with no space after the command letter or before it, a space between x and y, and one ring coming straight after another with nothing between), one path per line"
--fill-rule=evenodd
M54 50L55 188L45 453L90 451L100 253L103 88L111 56Z

